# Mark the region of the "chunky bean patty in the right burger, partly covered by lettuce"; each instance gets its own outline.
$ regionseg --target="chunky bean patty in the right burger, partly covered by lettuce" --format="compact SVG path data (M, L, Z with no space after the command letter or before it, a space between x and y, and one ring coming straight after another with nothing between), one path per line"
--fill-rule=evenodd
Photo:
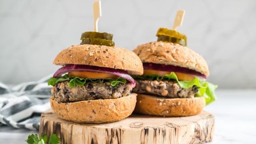
M138 94L151 94L167 98L194 98L198 86L184 89L176 81L136 80L136 87L132 90Z

